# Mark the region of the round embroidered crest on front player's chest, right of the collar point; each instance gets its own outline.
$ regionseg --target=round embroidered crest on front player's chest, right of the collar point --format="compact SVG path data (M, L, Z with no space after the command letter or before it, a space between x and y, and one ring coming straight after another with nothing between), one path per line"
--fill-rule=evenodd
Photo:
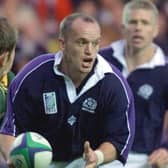
M97 107L97 101L93 98L87 98L82 104L82 110L88 111L90 113L95 113Z

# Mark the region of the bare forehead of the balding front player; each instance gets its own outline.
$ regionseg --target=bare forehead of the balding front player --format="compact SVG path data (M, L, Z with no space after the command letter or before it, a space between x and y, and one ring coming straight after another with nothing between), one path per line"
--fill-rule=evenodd
M73 37L97 39L101 36L100 26L96 22L88 22L80 18L72 23L72 33L75 34Z

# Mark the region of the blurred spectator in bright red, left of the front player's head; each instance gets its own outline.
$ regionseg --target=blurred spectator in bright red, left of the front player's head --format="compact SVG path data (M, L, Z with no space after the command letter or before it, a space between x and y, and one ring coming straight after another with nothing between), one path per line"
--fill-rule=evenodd
M49 35L55 34L59 22L73 12L71 0L36 0L35 10Z

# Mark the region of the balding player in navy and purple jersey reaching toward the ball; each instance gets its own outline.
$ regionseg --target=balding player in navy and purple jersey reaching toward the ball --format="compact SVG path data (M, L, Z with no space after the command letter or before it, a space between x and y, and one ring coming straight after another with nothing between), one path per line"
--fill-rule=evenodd
M126 162L134 137L134 100L119 70L97 54L100 39L94 18L67 16L60 24L61 51L36 57L17 74L0 130L7 158L15 136L34 131L53 147L51 167ZM72 162L77 158L80 166Z

